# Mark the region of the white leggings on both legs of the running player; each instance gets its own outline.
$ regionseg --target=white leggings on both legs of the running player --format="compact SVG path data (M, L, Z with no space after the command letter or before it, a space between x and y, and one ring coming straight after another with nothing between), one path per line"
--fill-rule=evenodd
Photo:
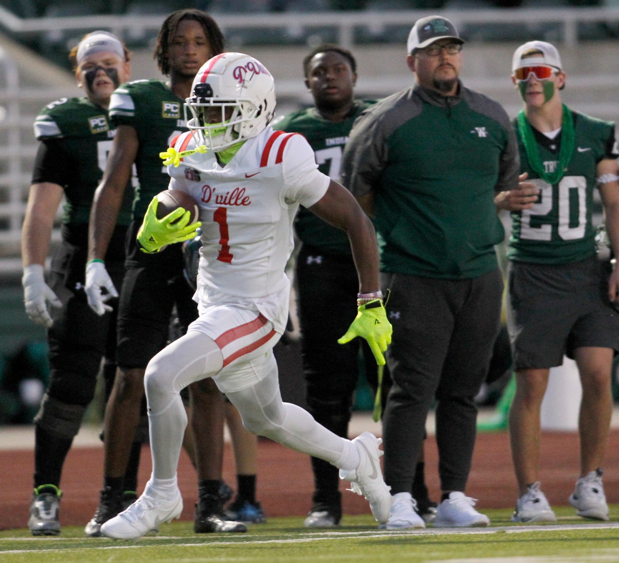
M318 424L300 406L282 402L277 363L272 350L266 376L241 391L226 393L249 432L266 436L297 452L308 453L347 471L359 463L355 445ZM181 453L187 415L180 390L212 377L222 369L223 356L212 338L190 330L152 358L144 386L149 406L150 451L155 479L172 479Z

